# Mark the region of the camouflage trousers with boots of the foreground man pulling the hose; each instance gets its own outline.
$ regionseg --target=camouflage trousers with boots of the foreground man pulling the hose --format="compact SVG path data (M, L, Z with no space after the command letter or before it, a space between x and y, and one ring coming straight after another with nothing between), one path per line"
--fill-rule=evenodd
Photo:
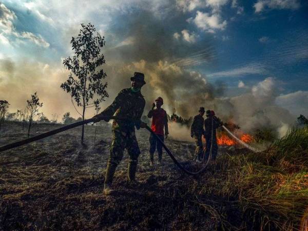
M140 149L134 131L112 130L110 158L107 163L105 184L111 185L115 169L120 164L124 149L127 149L129 162L127 178L132 181L136 175Z

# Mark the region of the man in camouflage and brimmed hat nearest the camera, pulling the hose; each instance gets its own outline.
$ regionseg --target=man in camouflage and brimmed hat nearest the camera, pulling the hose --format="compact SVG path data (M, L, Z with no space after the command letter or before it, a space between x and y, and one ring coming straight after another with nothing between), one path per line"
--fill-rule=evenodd
M135 175L140 150L134 127L140 129L140 127L144 128L146 125L140 120L145 106L145 100L140 92L140 89L144 84L144 74L134 72L134 76L131 77L132 87L121 90L113 103L103 112L94 117L97 121L103 119L108 122L108 117L111 117L114 114L119 118L137 120L137 122L114 120L112 123L112 144L104 182L104 194L106 195L112 192L110 187L113 175L115 169L123 158L123 151L125 148L129 155L127 170L128 181L131 183L138 183L135 180Z

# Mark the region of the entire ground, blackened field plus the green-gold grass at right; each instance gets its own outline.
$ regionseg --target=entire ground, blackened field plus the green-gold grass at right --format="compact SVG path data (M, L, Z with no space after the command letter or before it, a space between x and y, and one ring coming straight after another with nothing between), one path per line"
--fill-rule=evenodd
M27 138L7 122L0 145ZM35 124L31 135L63 125ZM220 147L199 179L183 174L164 152L149 166L146 130L137 132L141 155L136 178L126 183L128 155L111 196L102 194L111 128L74 128L0 153L2 230L305 230L308 208L308 129L293 129L260 153ZM188 169L194 144L168 138L166 146ZM157 156L156 156L157 158Z

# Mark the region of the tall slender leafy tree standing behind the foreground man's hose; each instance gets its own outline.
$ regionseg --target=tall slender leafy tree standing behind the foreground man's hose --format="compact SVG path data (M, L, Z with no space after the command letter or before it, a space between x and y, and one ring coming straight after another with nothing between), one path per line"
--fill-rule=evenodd
M82 113L78 113L84 120L86 108L98 106L105 97L108 97L108 93L107 83L102 83L107 75L100 68L105 63L105 57L101 54L101 48L105 45L104 37L99 33L95 35L96 30L90 23L81 26L78 37L72 37L70 42L74 56L63 61L64 66L71 72L67 81L61 84L61 88L70 93L77 106L82 107ZM82 125L82 143L83 140L84 125Z

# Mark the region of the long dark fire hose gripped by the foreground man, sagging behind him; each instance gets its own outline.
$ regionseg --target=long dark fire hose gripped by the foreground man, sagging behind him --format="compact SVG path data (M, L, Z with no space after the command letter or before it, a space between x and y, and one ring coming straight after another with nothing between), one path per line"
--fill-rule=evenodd
M126 119L126 118L119 118L119 117L108 117L108 119L125 120L125 121L130 121L130 122L136 122L136 120ZM21 141L17 141L17 142L14 142L14 143L10 143L10 144L1 146L1 147L0 147L0 152L5 151L5 150L9 150L9 149L11 149L11 148L15 148L15 147L22 146L22 145L31 143L31 142L36 141L36 140L41 140L41 139L43 139L43 138L52 136L53 134L60 133L60 132L62 132L62 131L66 131L66 130L69 130L69 129L71 129L71 128L78 127L78 126L83 125L83 124L92 123L92 122L95 122L95 121L96 121L95 119L91 118L91 119L88 119L88 120L84 120L84 121L76 122L76 123L73 123L73 124L69 124L69 125L66 125L66 126L63 126L63 127L61 127L61 128L57 128L57 129L54 129L54 130L51 130L51 131L47 131L47 132L44 132L44 133L42 133L42 134L39 134L39 135L37 135L37 136L31 137L31 138L28 138L28 139L25 139L25 140L21 140ZM206 170L206 167L207 167L207 165L208 165L209 162L207 162L207 163L202 167L202 169L200 169L199 171L192 172L192 171L187 170L182 164L180 164L180 163L177 161L177 159L175 158L175 156L172 155L171 151L167 148L167 146L164 144L164 142L157 136L157 134L155 134L155 132L152 131L152 129L151 129L149 126L146 125L145 129L147 129L150 133L153 134L153 136L155 136L155 137L158 139L158 141L162 144L162 146L164 147L164 149L166 150L167 154L168 154L169 157L172 159L172 161L173 161L181 170L183 170L186 174L191 175L191 176L199 176L200 174L202 174L202 173Z

